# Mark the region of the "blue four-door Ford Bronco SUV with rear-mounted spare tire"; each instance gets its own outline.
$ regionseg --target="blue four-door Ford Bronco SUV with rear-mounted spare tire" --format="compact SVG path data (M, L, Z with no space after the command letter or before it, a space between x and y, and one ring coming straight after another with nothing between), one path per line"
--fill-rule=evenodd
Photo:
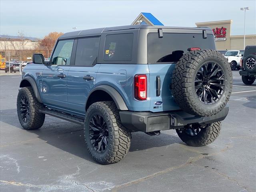
M210 28L119 26L60 36L49 61L33 55L22 71L20 124L40 128L45 114L84 126L96 162L122 160L132 132L175 129L189 146L219 135L232 72Z

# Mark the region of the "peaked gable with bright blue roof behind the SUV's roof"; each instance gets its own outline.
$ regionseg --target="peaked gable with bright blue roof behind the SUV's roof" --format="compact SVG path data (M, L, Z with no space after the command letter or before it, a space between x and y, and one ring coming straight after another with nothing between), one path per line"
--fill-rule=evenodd
M164 26L151 13L140 13L139 16L132 22L132 25L150 25L150 26Z

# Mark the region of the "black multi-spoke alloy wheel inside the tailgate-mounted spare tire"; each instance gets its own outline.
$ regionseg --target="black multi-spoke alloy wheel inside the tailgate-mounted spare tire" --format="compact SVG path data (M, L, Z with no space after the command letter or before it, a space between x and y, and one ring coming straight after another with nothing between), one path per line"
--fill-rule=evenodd
M203 64L195 78L195 91L204 104L214 104L222 96L225 88L225 75L215 62Z

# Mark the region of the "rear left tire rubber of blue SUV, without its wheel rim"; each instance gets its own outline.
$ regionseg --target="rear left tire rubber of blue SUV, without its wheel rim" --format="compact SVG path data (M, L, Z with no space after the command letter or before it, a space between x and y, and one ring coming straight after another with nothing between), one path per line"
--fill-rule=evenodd
M100 114L108 127L108 146L104 152L94 150L90 142L89 121L94 114ZM93 103L84 120L84 140L92 158L100 164L112 164L122 160L130 149L131 132L121 123L119 110L112 101Z

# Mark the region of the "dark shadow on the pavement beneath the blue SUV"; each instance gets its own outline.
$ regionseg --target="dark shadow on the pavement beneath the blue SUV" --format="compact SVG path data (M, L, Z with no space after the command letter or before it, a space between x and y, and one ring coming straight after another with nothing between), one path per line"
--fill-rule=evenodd
M16 109L1 110L0 120L1 122L4 122L10 126L22 129L22 126L18 120ZM28 134L27 132L36 134L38 136L37 138L45 141L47 144L95 163L86 150L83 127L80 125L52 116L46 116L42 128L38 130L22 129L22 132L17 132L17 134L27 134L27 136L30 137L26 137L26 140L21 139L18 142L35 142L33 140L35 139L35 136ZM20 138L22 138L22 135L20 135ZM33 141L30 141L31 139ZM143 132L133 132L130 152L146 150L154 147L168 146L170 144L179 142L181 142L181 140L178 137L165 133L161 133L159 136L149 136Z

